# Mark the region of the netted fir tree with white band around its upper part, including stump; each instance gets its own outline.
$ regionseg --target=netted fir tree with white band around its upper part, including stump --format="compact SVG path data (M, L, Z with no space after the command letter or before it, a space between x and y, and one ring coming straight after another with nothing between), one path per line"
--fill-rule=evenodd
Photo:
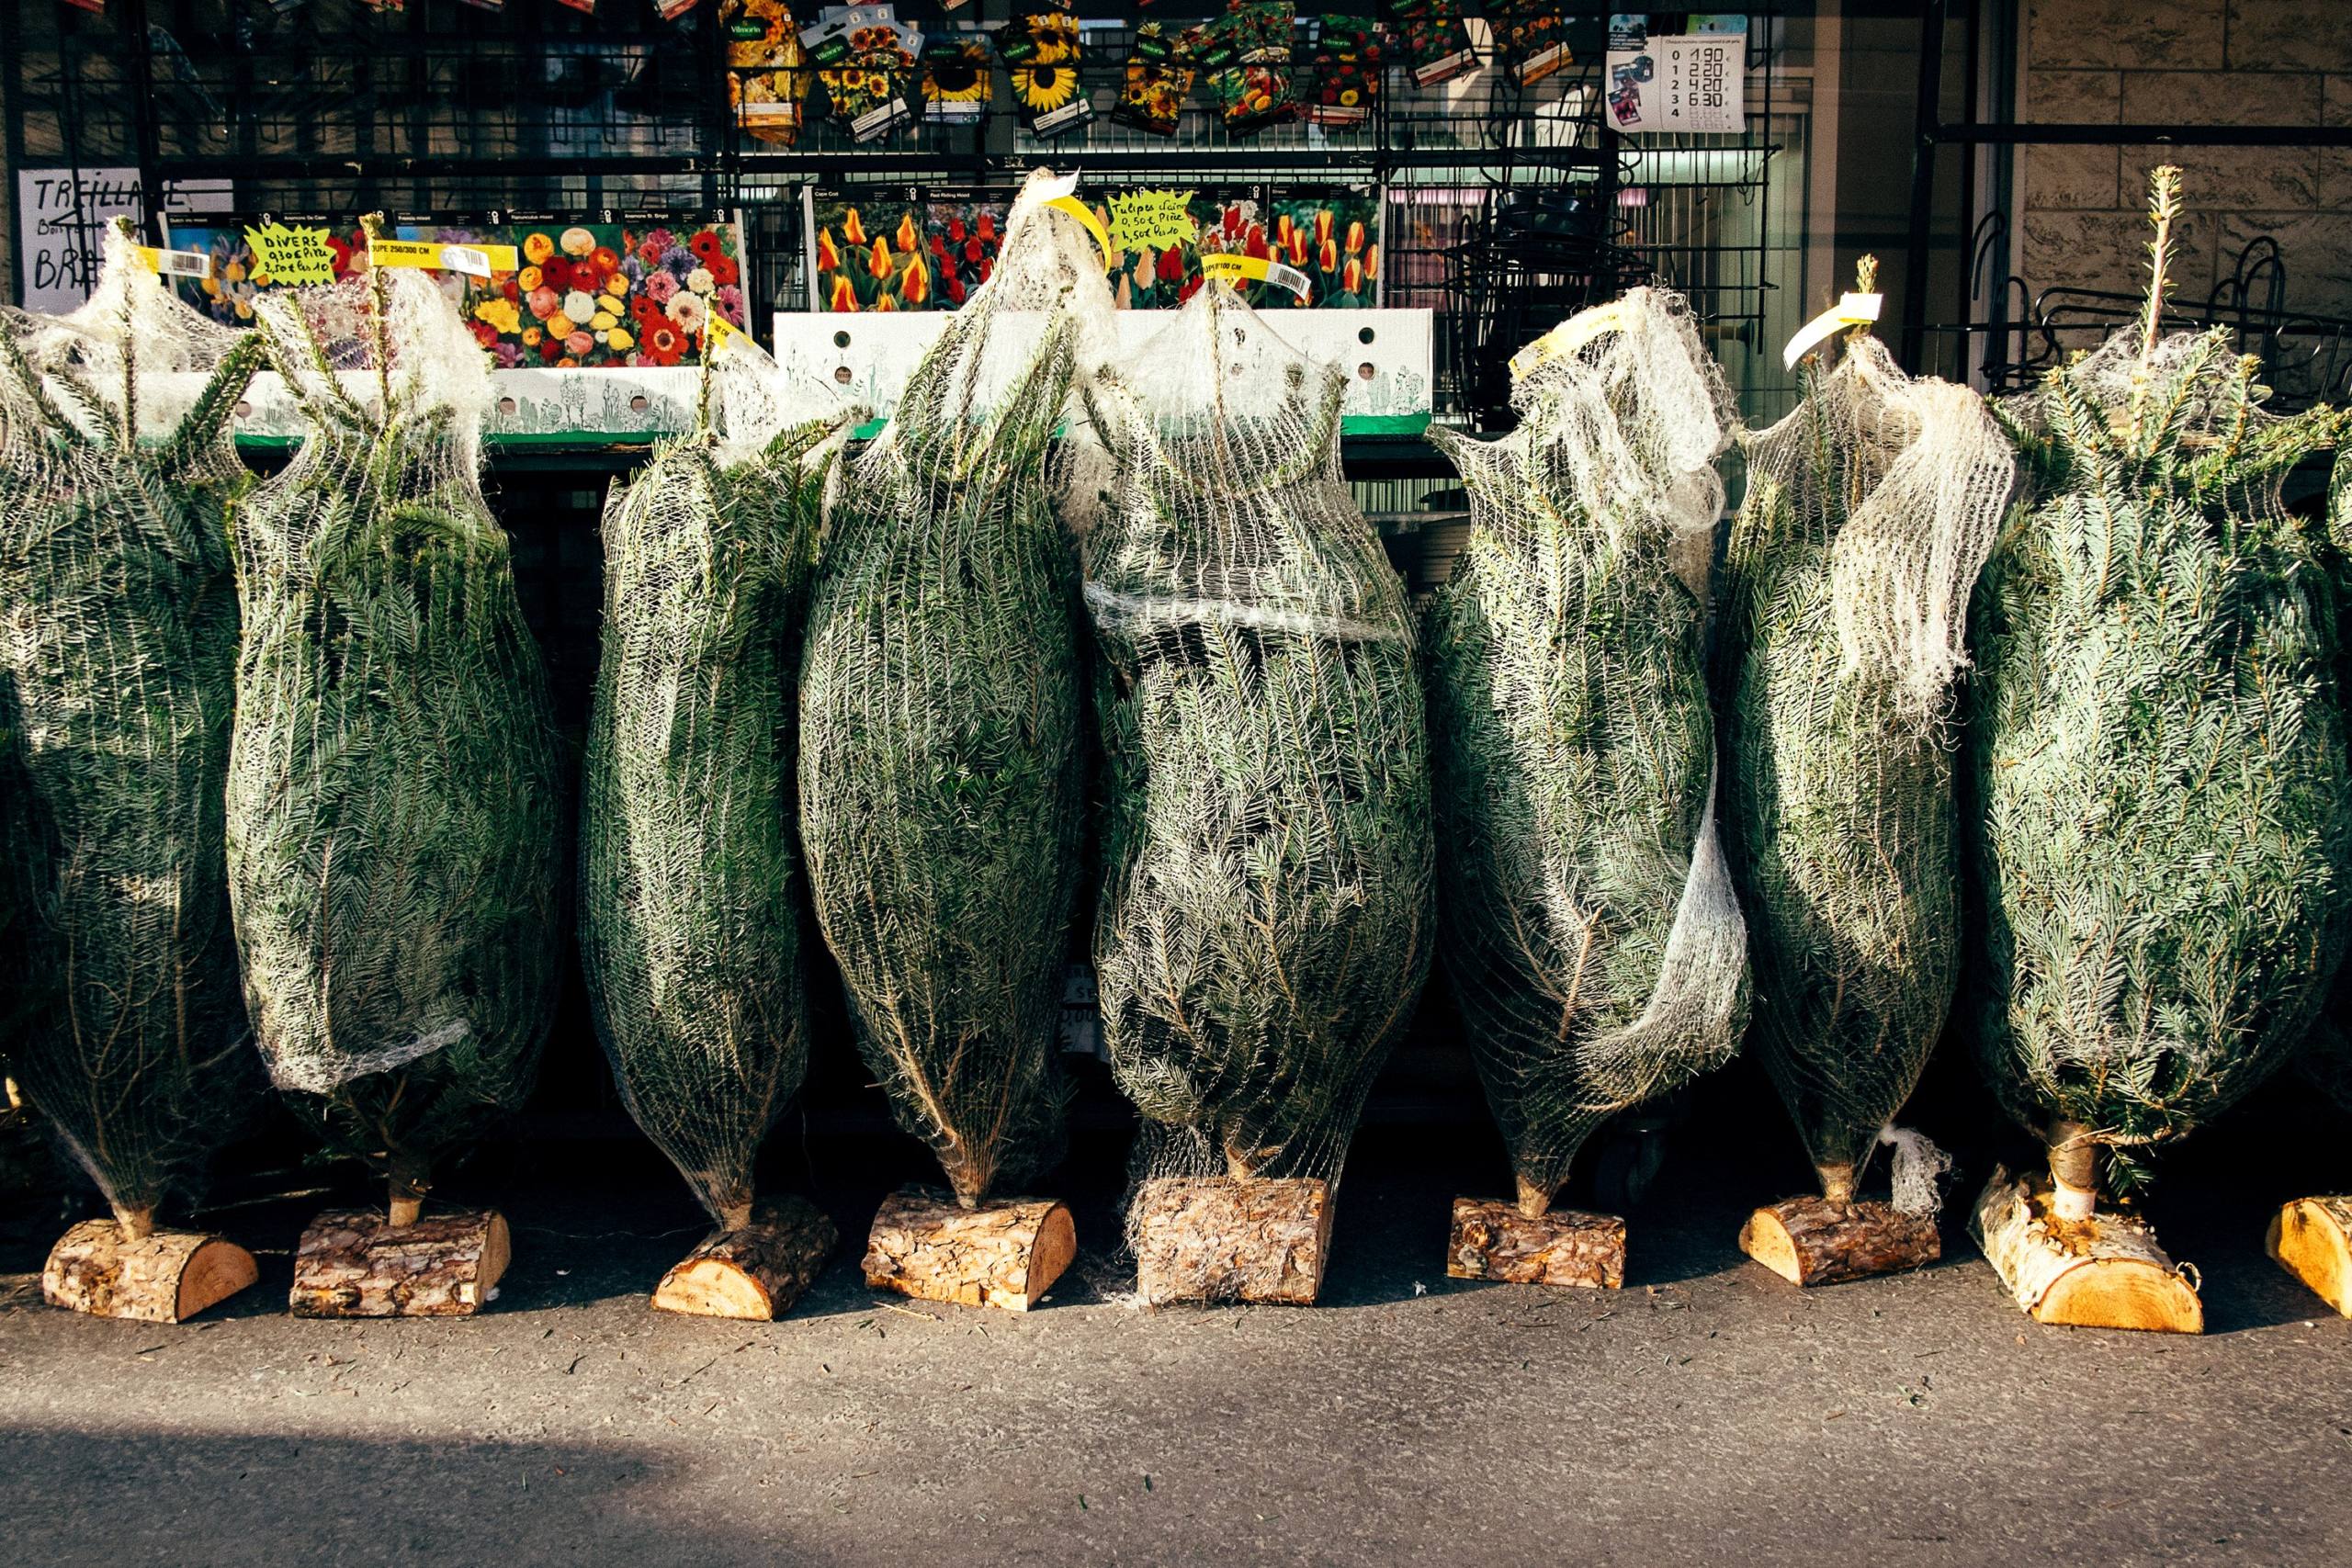
M1308 1305L1432 952L1414 625L1338 470L1336 367L1223 282L1136 364L1087 390L1110 482L1084 545L1129 1244L1148 1302Z

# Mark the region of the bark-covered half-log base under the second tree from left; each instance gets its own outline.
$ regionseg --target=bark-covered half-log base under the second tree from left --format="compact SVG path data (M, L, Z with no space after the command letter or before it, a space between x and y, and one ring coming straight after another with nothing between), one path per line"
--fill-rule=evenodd
M513 1255L494 1208L393 1225L376 1208L329 1208L294 1248L294 1316L473 1316Z

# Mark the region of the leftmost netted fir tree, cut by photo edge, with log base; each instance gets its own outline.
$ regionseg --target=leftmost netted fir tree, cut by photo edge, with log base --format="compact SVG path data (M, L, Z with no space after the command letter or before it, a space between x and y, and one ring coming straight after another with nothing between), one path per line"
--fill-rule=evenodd
M64 317L0 322L0 844L7 1070L106 1197L49 1253L52 1305L176 1324L254 1284L158 1229L259 1105L221 788L238 604L228 440L259 360L172 296L127 221ZM21 813L21 816L19 816Z

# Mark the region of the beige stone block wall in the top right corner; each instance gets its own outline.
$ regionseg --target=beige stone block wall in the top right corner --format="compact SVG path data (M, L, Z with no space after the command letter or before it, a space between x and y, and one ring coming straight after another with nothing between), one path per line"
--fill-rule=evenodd
M2352 5L2340 0L2020 0L2023 120L2352 125ZM2256 235L2286 254L2286 303L2352 315L2352 150L2037 146L2018 150L2016 270L2145 287L2147 169L2178 162L2178 299L2201 301Z

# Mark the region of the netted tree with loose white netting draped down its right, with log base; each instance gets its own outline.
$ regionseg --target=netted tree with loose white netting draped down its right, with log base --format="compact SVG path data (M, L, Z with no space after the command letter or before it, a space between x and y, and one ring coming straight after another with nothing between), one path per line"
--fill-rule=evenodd
M1863 294L1877 270L1865 261ZM1912 381L1867 329L1748 437L1731 529L1724 846L1764 1058L1820 1173L1740 1246L1792 1284L1933 1262L1936 1175L1893 1126L1959 978L1955 684L1969 590L2016 480L1985 402ZM1893 1201L1858 1201L1877 1147Z

